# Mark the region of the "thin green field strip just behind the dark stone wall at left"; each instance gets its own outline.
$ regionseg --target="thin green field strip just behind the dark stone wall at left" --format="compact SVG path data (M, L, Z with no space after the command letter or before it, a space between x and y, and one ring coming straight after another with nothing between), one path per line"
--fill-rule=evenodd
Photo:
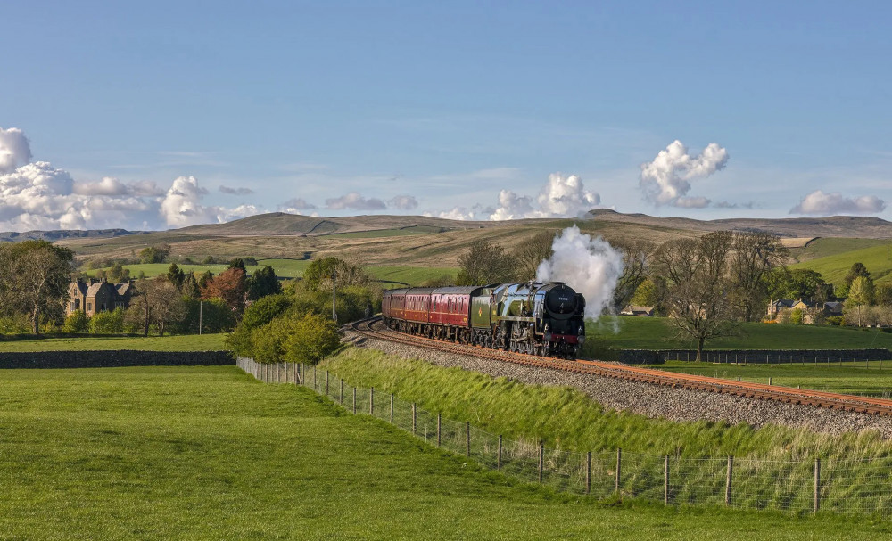
M181 334L169 336L112 336L83 338L37 338L0 340L0 351L219 351L226 334Z

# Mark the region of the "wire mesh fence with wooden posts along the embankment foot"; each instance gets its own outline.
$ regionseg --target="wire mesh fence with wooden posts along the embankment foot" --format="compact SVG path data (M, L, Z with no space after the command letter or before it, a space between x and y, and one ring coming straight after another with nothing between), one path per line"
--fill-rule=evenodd
M690 458L625 453L579 453L545 447L535 439L501 435L428 412L374 388L350 385L337 375L298 364L237 365L266 383L313 389L353 414L390 422L434 447L467 456L518 480L560 492L598 498L619 496L669 505L725 505L785 512L892 514L892 457L872 460Z

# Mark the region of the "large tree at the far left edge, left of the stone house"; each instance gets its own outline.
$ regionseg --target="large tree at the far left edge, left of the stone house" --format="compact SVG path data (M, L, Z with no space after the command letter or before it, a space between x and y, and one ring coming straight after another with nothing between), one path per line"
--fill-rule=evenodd
M44 318L62 321L73 260L52 242L0 244L0 313L27 313L35 334Z

